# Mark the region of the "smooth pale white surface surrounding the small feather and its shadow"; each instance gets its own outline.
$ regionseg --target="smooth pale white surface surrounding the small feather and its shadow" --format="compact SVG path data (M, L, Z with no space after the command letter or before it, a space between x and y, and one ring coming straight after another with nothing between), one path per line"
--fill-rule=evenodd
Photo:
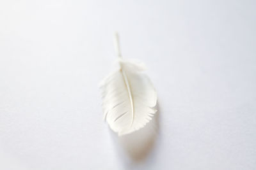
M0 169L256 169L255 18L255 1L1 1ZM140 163L102 122L115 30L159 97Z

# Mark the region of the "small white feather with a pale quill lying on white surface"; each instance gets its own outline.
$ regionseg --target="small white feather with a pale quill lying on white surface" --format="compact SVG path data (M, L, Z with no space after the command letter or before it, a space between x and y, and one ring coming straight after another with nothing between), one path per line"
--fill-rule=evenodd
M119 136L137 131L145 126L156 113L156 90L142 71L145 65L125 60L120 53L116 34L116 53L119 68L100 83L104 119Z

